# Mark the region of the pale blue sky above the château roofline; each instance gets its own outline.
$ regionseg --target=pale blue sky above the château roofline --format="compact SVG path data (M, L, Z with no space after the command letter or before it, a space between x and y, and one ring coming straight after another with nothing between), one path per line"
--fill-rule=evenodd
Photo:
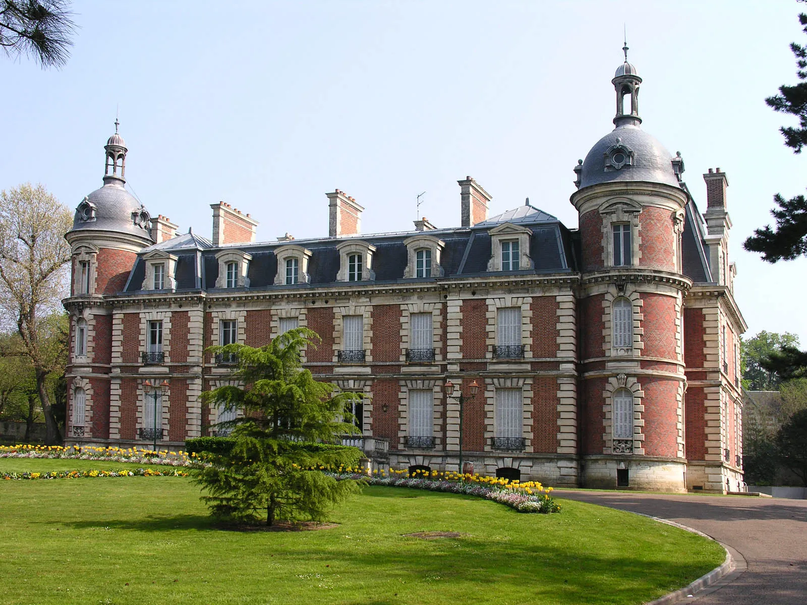
M232 5L232 6L231 6ZM729 177L736 297L752 335L807 344L805 267L767 265L742 240L771 198L807 187L763 99L796 83L805 42L790 0L768 2L74 2L61 71L0 60L0 188L42 182L75 207L101 185L115 106L128 185L153 214L210 236L224 200L259 240L324 236L341 189L362 232L420 215L459 223L457 180L569 227L578 158L613 128L625 23L644 79L642 127L680 151L705 210L707 169Z

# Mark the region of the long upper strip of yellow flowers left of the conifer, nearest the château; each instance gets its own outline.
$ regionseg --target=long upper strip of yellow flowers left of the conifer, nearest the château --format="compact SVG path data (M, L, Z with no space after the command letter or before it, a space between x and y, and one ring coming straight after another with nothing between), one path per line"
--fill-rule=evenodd
M0 458L54 458L57 460L99 460L109 462L134 462L142 465L192 466L195 454L178 450L96 448L86 445L65 448L61 445L0 445Z

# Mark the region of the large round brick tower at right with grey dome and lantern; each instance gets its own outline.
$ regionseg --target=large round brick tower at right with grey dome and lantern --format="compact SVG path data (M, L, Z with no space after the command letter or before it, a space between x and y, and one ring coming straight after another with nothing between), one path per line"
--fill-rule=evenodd
M642 78L612 80L614 130L575 167L586 486L684 490L684 163L640 127Z

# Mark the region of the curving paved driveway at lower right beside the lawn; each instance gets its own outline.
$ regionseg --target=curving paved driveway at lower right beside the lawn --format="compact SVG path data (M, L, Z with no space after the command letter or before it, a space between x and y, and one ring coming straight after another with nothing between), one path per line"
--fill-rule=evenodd
M745 557L745 572L690 603L807 603L807 500L575 490L554 495L688 525Z

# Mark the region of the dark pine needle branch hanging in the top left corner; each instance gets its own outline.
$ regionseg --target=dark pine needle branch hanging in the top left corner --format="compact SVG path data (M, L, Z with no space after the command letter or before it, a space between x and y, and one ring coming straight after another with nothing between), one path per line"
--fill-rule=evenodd
M43 68L61 67L75 31L65 0L0 0L0 47L8 56L33 56Z

